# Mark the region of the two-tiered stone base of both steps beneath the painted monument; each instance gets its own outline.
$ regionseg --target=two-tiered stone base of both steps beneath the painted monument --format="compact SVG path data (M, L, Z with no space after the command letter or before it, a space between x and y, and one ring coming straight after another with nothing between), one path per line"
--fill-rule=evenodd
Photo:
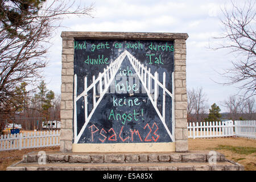
M51 153L46 164L38 164L35 153L7 167L7 171L243 171L241 164L226 160L216 152L216 163L209 151L157 152L157 153Z

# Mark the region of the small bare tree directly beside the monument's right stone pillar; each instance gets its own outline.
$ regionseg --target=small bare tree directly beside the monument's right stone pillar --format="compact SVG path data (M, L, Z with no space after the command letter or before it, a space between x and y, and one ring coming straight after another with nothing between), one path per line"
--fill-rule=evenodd
M207 113L207 95L203 92L203 88L188 89L188 118L191 121L203 121Z

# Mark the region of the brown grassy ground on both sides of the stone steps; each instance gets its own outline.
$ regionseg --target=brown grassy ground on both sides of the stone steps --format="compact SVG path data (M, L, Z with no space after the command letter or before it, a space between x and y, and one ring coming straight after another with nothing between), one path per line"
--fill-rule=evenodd
M250 147L248 149L248 147ZM247 154L240 154L236 149L248 151ZM256 140L246 138L209 138L209 139L188 139L189 150L214 150L225 155L226 159L236 161L243 166L245 170L256 171ZM32 151L56 151L59 147L29 148L23 150L0 151L0 170L4 171L6 167L22 160L24 154Z

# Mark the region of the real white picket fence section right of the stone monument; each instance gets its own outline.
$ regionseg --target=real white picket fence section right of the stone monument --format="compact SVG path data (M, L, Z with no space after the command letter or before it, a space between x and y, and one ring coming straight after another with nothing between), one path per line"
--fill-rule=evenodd
M234 136L256 139L256 121L188 123L188 138Z

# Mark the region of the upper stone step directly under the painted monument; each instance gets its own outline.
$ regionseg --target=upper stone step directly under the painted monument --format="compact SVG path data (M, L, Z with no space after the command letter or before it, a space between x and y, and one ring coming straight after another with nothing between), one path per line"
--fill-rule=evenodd
M172 163L172 162L208 162L212 153L209 151L189 152L157 152L157 153L46 153L47 163ZM38 162L40 156L36 153L23 155L24 163ZM225 156L216 152L216 161L225 162Z

